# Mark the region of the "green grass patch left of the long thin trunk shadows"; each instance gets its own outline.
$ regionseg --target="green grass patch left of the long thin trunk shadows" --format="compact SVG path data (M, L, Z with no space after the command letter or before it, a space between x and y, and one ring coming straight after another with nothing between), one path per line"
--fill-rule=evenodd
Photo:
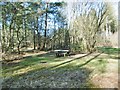
M52 56L50 56L49 54L41 56L29 56L20 60L20 62L12 63L12 65L3 66L2 74L5 77L13 77L16 74L19 75L21 72L27 73L32 70L42 70L43 68L57 65L61 61L64 61L66 58L67 57L56 58L54 54L52 54Z

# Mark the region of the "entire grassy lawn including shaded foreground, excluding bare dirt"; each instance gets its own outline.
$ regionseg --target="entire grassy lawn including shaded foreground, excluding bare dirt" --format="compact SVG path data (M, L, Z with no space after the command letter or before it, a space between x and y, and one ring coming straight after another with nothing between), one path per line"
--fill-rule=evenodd
M91 78L107 72L109 59L118 57L119 49L99 50L103 54L56 58L53 53L47 53L3 65L3 87L99 87L94 85Z

